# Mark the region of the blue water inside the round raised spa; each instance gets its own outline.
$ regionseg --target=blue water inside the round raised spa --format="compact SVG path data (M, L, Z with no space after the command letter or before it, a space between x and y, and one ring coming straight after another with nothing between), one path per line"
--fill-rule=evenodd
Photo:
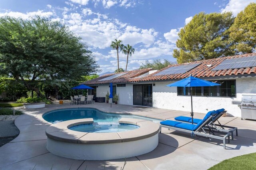
M70 130L88 133L110 133L110 132L124 132L138 129L139 126L131 124L105 124L99 125L94 123L93 125L76 125L70 127Z

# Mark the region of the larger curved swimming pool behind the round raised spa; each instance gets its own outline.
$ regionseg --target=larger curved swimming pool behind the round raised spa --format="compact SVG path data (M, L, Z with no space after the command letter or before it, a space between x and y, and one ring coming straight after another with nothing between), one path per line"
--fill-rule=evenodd
M98 124L109 124L118 123L118 120L124 118L134 118L134 119L145 119L149 121L153 121L154 123L158 123L161 120L152 119L148 117L136 116L136 115L122 115L122 114L111 114L104 113L97 109L92 108L79 108L79 109L59 109L50 111L43 115L44 120L50 123L58 123L67 120L74 119L84 119L84 118L93 118L94 122L98 122Z

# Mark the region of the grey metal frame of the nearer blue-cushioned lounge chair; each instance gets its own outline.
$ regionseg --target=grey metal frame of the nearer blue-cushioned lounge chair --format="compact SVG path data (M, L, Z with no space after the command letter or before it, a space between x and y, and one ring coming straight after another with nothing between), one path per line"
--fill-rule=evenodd
M210 121L212 121L212 116L208 117L208 119L206 119L206 121L204 121L204 123L202 123L202 125L200 125L195 131L190 131L190 130L187 130L187 129L181 129L181 128L177 128L177 127L172 127L172 126L167 126L167 125L161 125L160 124L160 132L159 133L161 133L162 127L165 127L169 130L173 129L173 130L176 130L176 131L182 131L182 132L186 132L186 133L194 133L197 136L206 137L208 139L214 138L214 139L222 140L223 141L223 148L226 149L226 138L228 138L228 143L230 143L230 132L226 132L225 133L226 135L224 135L224 137L216 136L212 129L210 131L213 134L206 133L206 131L204 130L203 127L208 126ZM216 133L218 133L218 131L216 131Z

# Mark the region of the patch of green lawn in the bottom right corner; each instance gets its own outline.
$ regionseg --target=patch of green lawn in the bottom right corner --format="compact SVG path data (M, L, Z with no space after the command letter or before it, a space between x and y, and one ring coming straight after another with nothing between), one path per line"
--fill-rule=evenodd
M236 156L212 166L209 170L256 170L256 152Z

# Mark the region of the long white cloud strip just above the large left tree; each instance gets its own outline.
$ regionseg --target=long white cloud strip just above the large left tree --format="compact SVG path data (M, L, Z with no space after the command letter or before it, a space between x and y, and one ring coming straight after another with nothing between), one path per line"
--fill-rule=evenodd
M12 12L12 11L0 13L0 17L2 17L2 16L11 16L11 17L15 17L15 18L22 18L24 20L28 20L30 17L33 17L33 16L50 17L50 16L53 16L53 15L54 14L52 12L43 12L43 10L38 10L36 12L27 12L26 14L21 13L21 12Z

